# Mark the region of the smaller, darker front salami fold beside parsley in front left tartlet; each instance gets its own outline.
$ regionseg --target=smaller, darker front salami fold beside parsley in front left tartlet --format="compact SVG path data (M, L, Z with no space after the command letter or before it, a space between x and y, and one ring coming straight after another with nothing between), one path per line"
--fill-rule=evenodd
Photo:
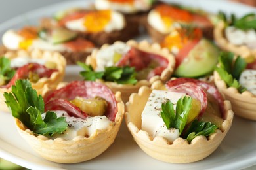
M65 110L70 116L76 118L87 118L87 114L79 109L79 107L73 105L69 101L64 99L53 99L45 103L45 110Z

